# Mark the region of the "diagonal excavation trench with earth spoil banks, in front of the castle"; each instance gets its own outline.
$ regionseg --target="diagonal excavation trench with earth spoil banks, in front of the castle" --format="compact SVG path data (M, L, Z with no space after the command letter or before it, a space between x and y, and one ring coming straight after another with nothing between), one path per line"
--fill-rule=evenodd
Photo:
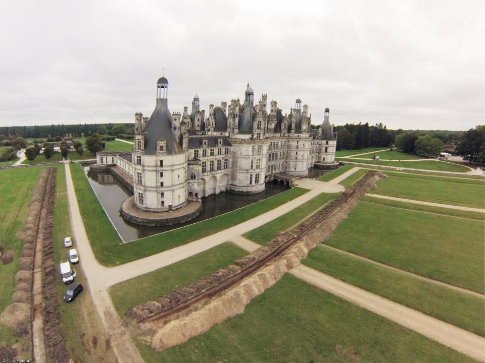
M152 347L181 344L244 311L251 299L298 266L308 251L328 238L358 199L375 187L381 172L369 171L339 198L265 247L168 295L138 304L127 315L153 332Z

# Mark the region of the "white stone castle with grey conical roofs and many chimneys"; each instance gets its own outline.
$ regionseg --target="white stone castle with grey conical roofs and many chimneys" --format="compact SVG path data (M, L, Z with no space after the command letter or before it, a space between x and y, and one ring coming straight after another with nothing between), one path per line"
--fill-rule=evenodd
M193 97L190 113L169 111L168 80L157 82L150 118L135 113L131 155L99 152L99 165L117 165L133 178L134 207L166 212L223 191L258 193L275 174L303 177L312 166L335 167L336 133L325 108L323 123L311 128L308 105L298 98L289 114L267 95L254 104L247 85L244 103L232 99L209 106Z

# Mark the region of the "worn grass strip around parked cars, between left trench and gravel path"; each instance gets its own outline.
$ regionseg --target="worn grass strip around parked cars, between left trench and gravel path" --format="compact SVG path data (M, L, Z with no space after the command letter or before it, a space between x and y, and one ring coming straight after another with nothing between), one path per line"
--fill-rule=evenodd
M68 261L69 250L76 248L76 240L74 238L72 247L65 248L62 244L64 237L71 235L64 165L57 166L56 201L54 207L54 260L57 264L61 261ZM82 256L79 256L79 259L82 260ZM72 265L72 267L76 270L75 280L84 287L84 291L73 302L69 304L64 302L62 297L69 286L56 277L59 291L61 328L66 338L67 351L76 361L96 362L115 359L111 351L109 353L106 352L104 328L91 300L88 284L81 266L78 264ZM82 337L80 336L81 334L83 334Z

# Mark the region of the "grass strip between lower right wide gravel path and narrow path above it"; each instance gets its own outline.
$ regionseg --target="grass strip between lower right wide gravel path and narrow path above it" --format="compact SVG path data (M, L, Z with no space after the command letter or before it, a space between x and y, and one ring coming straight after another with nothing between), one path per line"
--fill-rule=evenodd
M305 265L475 334L484 335L485 301L318 246Z

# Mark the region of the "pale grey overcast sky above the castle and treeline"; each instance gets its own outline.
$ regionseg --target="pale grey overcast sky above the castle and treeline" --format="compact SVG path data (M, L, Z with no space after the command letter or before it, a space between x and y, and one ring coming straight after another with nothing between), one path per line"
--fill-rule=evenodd
M312 123L485 123L485 2L3 1L0 126L134 122L268 94Z

